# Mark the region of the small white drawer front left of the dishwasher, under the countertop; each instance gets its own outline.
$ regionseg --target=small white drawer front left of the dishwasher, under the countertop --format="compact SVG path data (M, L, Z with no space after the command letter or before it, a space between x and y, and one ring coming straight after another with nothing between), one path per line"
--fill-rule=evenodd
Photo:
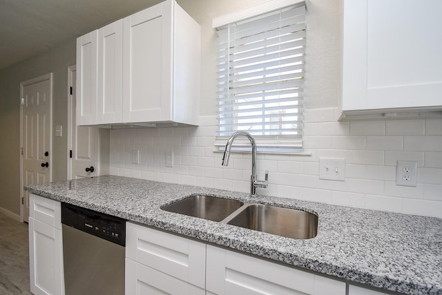
M29 216L61 230L61 203L30 194Z

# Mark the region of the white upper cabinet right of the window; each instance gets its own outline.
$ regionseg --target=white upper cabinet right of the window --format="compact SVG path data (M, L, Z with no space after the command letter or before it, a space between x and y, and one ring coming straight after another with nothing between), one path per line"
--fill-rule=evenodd
M442 1L345 0L347 114L442 108Z

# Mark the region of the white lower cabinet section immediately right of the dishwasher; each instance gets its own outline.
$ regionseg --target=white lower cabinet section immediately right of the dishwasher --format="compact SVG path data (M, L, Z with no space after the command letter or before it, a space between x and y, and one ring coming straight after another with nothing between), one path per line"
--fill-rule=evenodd
M206 244L126 223L126 295L205 294Z

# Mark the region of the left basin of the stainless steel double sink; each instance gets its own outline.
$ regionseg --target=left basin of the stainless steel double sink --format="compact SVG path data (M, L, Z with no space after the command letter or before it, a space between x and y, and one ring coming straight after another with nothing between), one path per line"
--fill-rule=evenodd
M238 200L202 195L189 196L186 199L162 207L162 210L209 219L211 221L222 221L242 205L244 203Z

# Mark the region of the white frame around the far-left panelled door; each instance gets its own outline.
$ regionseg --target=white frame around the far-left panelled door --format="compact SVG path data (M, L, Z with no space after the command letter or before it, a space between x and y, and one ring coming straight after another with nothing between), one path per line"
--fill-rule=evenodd
M49 90L49 105L50 105L50 110L49 110L49 147L50 147L50 154L49 154L49 181L52 181L52 89L53 89L53 74L52 72L48 73L48 74L44 74L41 75L39 77L35 77L26 81L23 81L20 83L20 97L19 97L19 102L20 102L20 198L19 198L19 206L20 206L20 221L23 222L24 221L24 216L23 216L23 206L24 204L24 196L23 196L23 104L22 104L22 99L23 99L23 88L25 88L28 85L32 85L35 83L39 83L39 82L43 82L49 80L49 84L50 84L50 90Z

